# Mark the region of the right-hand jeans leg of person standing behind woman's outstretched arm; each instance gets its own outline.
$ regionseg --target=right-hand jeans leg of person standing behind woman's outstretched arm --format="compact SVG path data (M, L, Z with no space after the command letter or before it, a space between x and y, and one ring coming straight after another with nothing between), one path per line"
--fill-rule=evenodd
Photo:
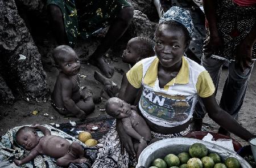
M234 62L229 63L229 75L223 88L220 107L235 119L238 119L238 112L243 104L252 70L253 65L243 73L235 67ZM218 132L229 135L229 132L222 127L219 128Z

